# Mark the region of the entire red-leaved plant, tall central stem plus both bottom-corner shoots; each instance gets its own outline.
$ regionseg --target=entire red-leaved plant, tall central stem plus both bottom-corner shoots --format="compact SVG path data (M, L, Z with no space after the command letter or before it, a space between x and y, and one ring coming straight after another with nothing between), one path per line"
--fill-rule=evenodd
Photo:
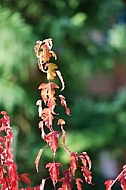
M57 188L57 183L61 184L58 190L72 190L73 183L76 184L77 190L82 190L82 183L92 183L91 172L91 159L86 152L78 153L72 152L66 146L66 130L65 120L60 118L55 112L57 100L60 100L61 106L65 108L66 114L70 116L70 109L67 106L65 97L62 94L57 95L56 90L59 86L52 82L56 76L59 77L62 87L60 91L65 88L65 83L61 72L58 70L58 66L55 63L50 62L53 57L57 59L56 54L52 51L52 39L45 39L43 41L37 41L34 47L35 55L38 59L38 67L47 76L47 82L42 83L39 86L41 91L41 99L37 101L38 113L41 118L39 122L39 129L41 130L41 138L46 142L46 146L41 148L35 159L35 166L37 172L39 172L39 161L42 153L46 147L50 147L52 160L45 165L48 168L49 176L42 179L40 185L36 187L30 186L30 179L27 173L18 174L17 166L13 161L12 153L12 140L13 133L10 126L10 118L5 111L1 111L0 115L0 189L1 190L44 190L45 182L48 179L52 180L54 190ZM58 118L59 117L59 118ZM57 120L57 126L54 127L54 119ZM60 126L60 132L59 132ZM57 130L55 129L57 127ZM46 131L46 132L45 132ZM61 138L60 138L61 137ZM61 139L61 142L60 142ZM60 143L59 143L60 142ZM64 151L69 155L69 167L61 172L60 168L62 163L55 161L57 149L61 146ZM76 171L82 172L82 178L76 177ZM115 182L118 181L122 190L126 190L126 166L123 166L123 170L117 176L115 180L107 180L105 182L106 190L111 190ZM24 188L22 182L25 182L28 187Z

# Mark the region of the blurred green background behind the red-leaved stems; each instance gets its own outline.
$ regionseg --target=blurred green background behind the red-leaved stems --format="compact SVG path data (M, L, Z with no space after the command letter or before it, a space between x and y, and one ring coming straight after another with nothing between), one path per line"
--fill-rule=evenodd
M36 173L34 160L45 146L36 101L46 80L34 45L49 37L72 114L58 106L67 146L92 159L95 185L84 183L84 189L105 189L104 181L115 178L126 161L126 0L0 0L0 110L11 118L18 171L29 173L32 185L48 176L44 167L51 161L47 148ZM56 160L64 168L67 159L59 148Z

